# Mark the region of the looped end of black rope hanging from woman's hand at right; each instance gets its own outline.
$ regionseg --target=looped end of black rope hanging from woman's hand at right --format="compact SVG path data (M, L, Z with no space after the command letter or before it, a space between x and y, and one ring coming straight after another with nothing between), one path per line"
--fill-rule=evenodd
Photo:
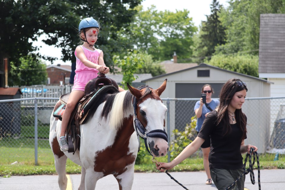
M253 162L251 163L251 153L253 152ZM253 166L254 166L254 162L255 162L255 156L256 156L256 159L257 159L257 171L258 171L258 188L259 190L261 190L261 186L260 186L260 167L259 167L259 158L258 158L258 153L257 152L254 152L254 148L250 148L250 152L249 154L247 153L246 154L246 158L244 160L244 164L243 164L243 174L241 174L238 179L235 180L234 183L232 183L232 185L228 186L225 190L228 190L230 189L232 186L235 185L235 183L237 183L241 177L243 177L243 175L246 175L248 173L250 173L250 181L251 183L254 185L255 184L255 178L254 178L254 172L253 172ZM247 157L249 158L248 161L249 161L249 167L248 169L246 170L246 160L247 160Z

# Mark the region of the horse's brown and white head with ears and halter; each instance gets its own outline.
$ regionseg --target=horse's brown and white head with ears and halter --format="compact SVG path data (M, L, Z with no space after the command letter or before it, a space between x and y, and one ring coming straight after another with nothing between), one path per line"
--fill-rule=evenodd
M148 86L139 89L127 84L134 96L134 128L145 140L153 156L165 156L168 151L167 134L164 130L167 107L162 103L160 95L166 88L167 79L157 89Z

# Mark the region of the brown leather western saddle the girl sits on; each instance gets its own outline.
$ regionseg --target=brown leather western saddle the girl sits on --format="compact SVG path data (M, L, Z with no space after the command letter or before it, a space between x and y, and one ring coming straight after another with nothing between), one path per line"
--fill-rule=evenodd
M68 152L80 150L80 129L79 126L84 124L92 114L95 113L98 106L105 101L107 94L118 93L118 84L115 80L108 78L105 74L99 74L98 77L89 80L84 88L84 96L79 100L72 114L70 115L69 123L66 128ZM68 98L70 94L60 96L62 104L56 108L53 113L54 117L62 120ZM75 148L73 143L75 142Z

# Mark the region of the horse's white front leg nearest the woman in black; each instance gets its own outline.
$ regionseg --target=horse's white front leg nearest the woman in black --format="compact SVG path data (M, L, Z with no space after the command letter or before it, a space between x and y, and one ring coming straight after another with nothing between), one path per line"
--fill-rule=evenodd
M132 169L128 169L121 175L115 176L115 178L119 183L120 190L131 190L134 182L134 167Z

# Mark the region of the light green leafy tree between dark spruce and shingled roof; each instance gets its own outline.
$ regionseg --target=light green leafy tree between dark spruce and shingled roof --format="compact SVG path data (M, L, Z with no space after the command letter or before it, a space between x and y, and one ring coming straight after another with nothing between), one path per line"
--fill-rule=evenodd
M229 6L221 9L220 14L227 40L215 48L215 53L248 52L258 55L260 14L284 13L284 10L284 0L229 1Z

